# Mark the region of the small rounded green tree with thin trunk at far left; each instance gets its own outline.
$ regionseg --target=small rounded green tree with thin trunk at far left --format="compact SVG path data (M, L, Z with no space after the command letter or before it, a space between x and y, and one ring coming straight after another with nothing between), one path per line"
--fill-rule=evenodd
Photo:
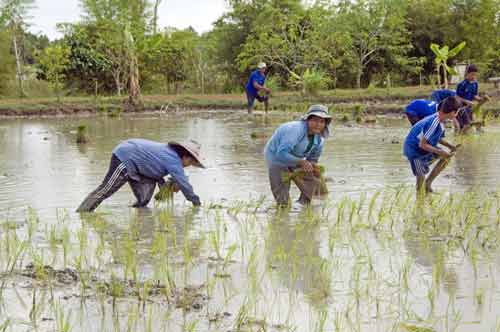
M40 65L44 69L47 80L52 84L57 101L60 101L61 82L64 79L64 71L69 64L70 50L60 44L47 47L40 56Z

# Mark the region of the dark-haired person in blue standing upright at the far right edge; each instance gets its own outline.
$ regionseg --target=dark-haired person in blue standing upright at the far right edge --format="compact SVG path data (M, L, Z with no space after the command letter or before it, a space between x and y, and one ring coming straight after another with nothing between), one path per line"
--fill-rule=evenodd
M465 79L457 85L457 96L460 101L467 105L457 114L456 128L462 133L467 133L473 121L472 106L474 101L482 100L478 96L479 84L477 83L478 70L475 65L467 66L465 71Z

